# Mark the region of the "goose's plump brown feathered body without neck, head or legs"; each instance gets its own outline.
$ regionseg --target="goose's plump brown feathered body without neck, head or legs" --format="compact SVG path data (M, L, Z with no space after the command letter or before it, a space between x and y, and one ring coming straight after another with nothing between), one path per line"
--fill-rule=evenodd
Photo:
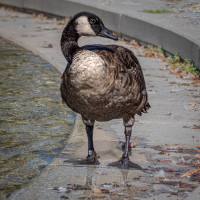
M83 119L97 121L129 119L150 107L137 58L115 45L79 48L63 73L61 96Z

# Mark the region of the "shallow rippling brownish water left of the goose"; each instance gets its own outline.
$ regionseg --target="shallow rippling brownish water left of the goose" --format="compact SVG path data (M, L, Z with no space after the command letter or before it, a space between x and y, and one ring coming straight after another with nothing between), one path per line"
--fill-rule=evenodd
M0 199L37 176L72 132L75 115L61 102L60 77L0 38Z

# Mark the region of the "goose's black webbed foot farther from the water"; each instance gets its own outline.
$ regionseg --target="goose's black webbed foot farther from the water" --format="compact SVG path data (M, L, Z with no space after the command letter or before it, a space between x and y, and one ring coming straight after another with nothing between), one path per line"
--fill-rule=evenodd
M110 163L108 166L117 167L120 169L142 169L139 165L131 162L129 157L124 156L122 156L118 161Z

